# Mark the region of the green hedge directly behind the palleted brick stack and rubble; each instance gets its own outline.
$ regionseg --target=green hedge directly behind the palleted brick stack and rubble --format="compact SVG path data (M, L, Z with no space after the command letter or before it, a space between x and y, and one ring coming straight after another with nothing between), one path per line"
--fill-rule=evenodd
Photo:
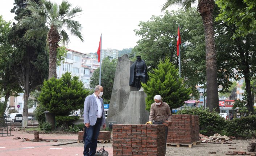
M220 117L215 111L210 111L208 108L203 107L187 107L177 112L177 114L191 114L199 115L199 127L200 133L203 135L214 135L215 133L221 133L226 125L226 120Z

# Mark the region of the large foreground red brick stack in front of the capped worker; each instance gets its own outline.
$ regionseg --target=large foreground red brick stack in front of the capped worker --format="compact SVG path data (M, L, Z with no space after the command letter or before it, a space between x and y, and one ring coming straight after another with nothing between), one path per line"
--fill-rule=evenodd
M113 156L165 156L164 125L113 125Z

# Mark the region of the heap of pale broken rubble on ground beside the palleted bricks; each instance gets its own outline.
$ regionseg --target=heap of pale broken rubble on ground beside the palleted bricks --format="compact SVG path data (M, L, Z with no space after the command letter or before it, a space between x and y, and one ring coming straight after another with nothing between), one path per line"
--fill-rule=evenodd
M232 139L230 137L226 135L222 136L218 133L209 137L200 134L200 140L201 140L201 143L232 144Z

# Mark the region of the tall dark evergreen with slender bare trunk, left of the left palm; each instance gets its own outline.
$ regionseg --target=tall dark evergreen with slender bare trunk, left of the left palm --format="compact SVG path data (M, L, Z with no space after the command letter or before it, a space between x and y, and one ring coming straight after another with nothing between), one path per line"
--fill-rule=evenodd
M30 14L25 10L25 0L15 0L15 6L11 10L17 16L16 20L19 20L24 14ZM15 47L15 51L11 55L11 62L9 63L10 69L12 69L17 77L18 84L24 90L24 107L23 107L23 119L28 119L28 106L27 101L29 94L38 85L47 78L48 75L48 53L45 50L46 38L30 39L29 41L24 38L26 29L17 30L15 23L13 23L11 33L9 35L12 46ZM40 25L38 25L40 26ZM23 125L27 126L27 125Z

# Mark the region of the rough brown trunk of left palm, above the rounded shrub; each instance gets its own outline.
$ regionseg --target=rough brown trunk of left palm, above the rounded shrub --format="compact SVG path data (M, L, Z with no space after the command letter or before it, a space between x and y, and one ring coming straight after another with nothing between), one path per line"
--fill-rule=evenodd
M49 76L48 79L55 77L57 78L56 67L57 67L57 48L60 35L57 30L53 27L48 32L48 44L49 44Z

